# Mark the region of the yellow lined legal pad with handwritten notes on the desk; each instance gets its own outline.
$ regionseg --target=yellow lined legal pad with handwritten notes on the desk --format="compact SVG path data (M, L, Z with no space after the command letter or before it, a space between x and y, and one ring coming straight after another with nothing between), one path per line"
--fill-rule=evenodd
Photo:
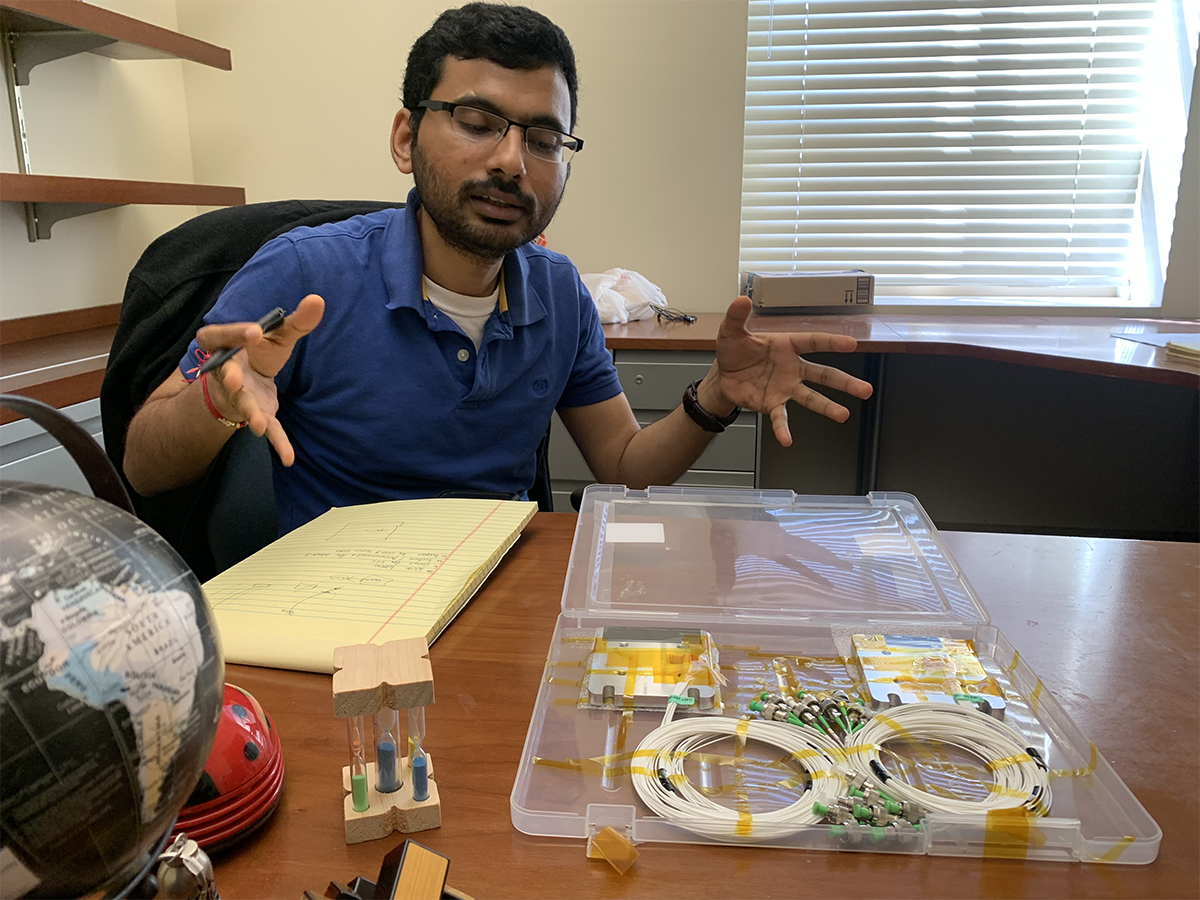
M226 661L332 672L335 647L433 643L536 511L466 499L332 509L204 586Z

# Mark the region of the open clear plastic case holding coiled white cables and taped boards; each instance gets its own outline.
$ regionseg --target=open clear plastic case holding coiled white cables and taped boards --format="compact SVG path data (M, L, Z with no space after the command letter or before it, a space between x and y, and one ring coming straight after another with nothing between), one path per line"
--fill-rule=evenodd
M884 800L893 809L887 785L872 794L852 773L874 797L862 803L880 803L888 827L859 824L848 812L848 826L817 821L812 799L832 773L814 770L833 767L805 762L812 751L781 754L756 739L755 727L809 732L748 725L756 721L748 718L756 716L751 704L768 694L868 698L856 635L928 636L973 650L985 674L980 692L1003 700L978 708L996 707L1021 750L985 762L953 734L917 739L892 722L908 707L874 713L895 731L871 746L890 778L931 799L979 803L980 811L914 805L912 822L901 822L882 811ZM667 707L672 726L704 720L706 728L725 730L686 744L670 772L654 748L638 749L660 733ZM854 744L848 731L844 745ZM839 773L863 749L839 751ZM1009 784L1006 767L1034 761L1043 797L1052 785L1048 809L989 809L996 797L1018 793L1001 785ZM683 814L652 811L646 797L655 781ZM781 818L788 806L799 818ZM904 493L589 487L511 810L527 834L590 838L613 827L635 842L1136 864L1152 862L1162 840L1096 745L989 624L929 516Z

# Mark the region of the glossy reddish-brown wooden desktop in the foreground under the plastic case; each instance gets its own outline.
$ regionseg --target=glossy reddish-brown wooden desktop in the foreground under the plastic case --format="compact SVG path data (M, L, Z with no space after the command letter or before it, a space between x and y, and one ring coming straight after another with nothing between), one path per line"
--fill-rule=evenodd
M433 646L428 748L444 824L414 835L450 857L450 883L504 898L1183 898L1200 863L1200 545L947 534L992 622L1091 737L1164 832L1150 866L643 844L624 877L583 842L530 838L509 793L542 677L572 516L538 514L479 595ZM374 877L395 840L347 847L340 767L346 730L326 676L230 666L280 730L287 762L275 818L216 858L228 900L296 900L331 878Z

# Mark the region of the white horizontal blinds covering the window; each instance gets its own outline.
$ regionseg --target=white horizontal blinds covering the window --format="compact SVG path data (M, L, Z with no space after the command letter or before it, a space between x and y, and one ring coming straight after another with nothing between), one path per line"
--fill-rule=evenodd
M1122 302L1152 0L751 0L740 268Z

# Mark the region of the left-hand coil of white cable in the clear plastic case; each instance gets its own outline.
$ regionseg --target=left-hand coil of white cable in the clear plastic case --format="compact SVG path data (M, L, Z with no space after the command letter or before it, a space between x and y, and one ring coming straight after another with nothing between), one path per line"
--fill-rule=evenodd
M784 838L821 816L814 803L833 805L845 791L841 760L845 751L832 738L810 728L785 722L695 716L670 721L655 728L637 745L632 781L637 796L658 816L696 834L722 841L762 841ZM702 794L684 774L684 761L722 738L742 737L769 744L790 754L811 780L811 788L799 799L780 809L750 815L731 809Z

